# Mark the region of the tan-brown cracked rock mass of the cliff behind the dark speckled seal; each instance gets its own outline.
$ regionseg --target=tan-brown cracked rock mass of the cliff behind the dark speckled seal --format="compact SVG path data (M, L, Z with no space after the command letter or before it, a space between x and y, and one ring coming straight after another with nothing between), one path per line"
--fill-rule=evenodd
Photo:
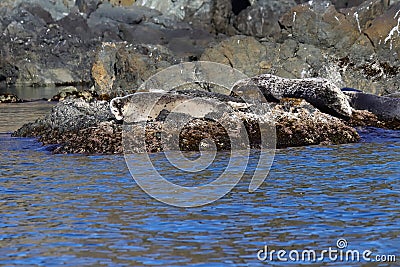
M231 64L249 76L321 77L339 87L373 94L396 92L400 85L395 51L399 3L389 10L380 0L353 3L347 9L328 2L310 3L293 7L280 18L283 30L278 42L234 36L208 48L202 59ZM369 37L374 29L381 31L377 41ZM388 36L392 49L389 39L384 44Z

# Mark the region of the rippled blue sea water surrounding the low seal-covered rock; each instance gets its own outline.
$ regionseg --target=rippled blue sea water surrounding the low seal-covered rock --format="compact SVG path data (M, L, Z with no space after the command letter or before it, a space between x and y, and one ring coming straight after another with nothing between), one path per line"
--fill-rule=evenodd
M0 105L1 266L400 266L398 131L359 129L358 144L277 150L267 179L249 193L253 151L232 192L177 208L144 193L123 156L52 155L11 137L51 105ZM229 161L218 153L203 176L191 176L162 153L150 157L177 183L215 179ZM272 250L288 261L277 253L263 261ZM288 259L305 250L371 251L371 260L397 262Z

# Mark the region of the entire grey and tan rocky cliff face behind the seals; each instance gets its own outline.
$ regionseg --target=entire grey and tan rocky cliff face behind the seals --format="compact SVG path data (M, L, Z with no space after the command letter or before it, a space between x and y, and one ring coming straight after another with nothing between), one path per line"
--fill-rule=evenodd
M113 96L201 59L388 94L400 88L399 28L400 1L6 0L0 84Z

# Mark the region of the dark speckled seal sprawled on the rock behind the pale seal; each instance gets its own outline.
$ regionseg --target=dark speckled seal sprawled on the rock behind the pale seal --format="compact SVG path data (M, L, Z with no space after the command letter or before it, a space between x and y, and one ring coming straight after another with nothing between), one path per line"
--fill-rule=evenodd
M321 78L285 79L271 74L262 74L239 81L232 93L239 97L254 95L255 87L269 102L282 98L301 98L324 113L349 119L351 106L346 95L332 82Z

